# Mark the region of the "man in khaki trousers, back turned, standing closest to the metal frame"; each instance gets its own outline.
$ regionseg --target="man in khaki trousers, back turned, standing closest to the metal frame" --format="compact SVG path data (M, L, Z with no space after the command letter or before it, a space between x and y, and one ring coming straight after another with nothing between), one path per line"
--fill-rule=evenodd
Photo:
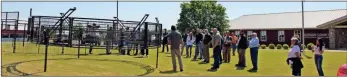
M171 26L171 33L167 35L168 42L171 45L171 57L173 64L173 71L176 71L176 56L178 58L178 64L180 66L180 71L183 71L182 57L180 54L180 45L183 46L183 40L181 33L176 31L176 26Z

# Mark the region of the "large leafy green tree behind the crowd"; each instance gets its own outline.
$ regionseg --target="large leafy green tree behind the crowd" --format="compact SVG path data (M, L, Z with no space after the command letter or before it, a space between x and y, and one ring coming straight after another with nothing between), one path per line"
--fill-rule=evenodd
M229 28L226 8L217 1L192 0L181 4L180 18L177 21L179 31L194 28L217 28L221 32Z

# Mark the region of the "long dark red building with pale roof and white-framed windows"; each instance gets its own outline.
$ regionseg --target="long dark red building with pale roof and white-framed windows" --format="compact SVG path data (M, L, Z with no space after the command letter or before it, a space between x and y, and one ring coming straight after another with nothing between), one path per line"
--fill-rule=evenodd
M346 16L346 12L346 9L304 12L304 37L302 37L302 12L244 15L231 20L230 30L235 31L236 35L242 30L247 37L252 32L256 32L260 44L290 44L290 39L294 35L299 35L304 38L305 45L315 43L317 38L322 38L327 48L337 48L332 46L336 45L332 43L335 41L329 39L331 35L329 29L317 26L342 18ZM347 46L341 48L347 48Z

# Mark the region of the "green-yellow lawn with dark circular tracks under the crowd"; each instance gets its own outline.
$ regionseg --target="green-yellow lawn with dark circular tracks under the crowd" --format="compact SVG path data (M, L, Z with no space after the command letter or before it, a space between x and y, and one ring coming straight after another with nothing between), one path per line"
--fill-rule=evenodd
M38 50L40 50L38 52ZM12 53L10 43L2 43L1 48L1 74L2 76L291 76L291 69L285 62L287 50L259 50L259 70L256 73L247 72L252 67L249 49L246 51L246 64L244 70L237 70L237 56L231 57L231 63L223 63L216 72L209 72L210 64L199 64L200 61L191 61L192 58L183 58L184 72L170 72L172 69L171 55L159 53L159 67L156 68L157 49L150 49L150 56L139 58L137 56L113 54L104 55L105 50L94 50L92 55L81 55L77 59L77 48L64 48L50 46L48 53L47 72L43 72L44 46L32 43L17 45L16 53ZM194 49L193 49L194 50ZM212 51L212 49L210 49ZM161 48L159 49L161 51ZM212 53L212 52L211 52ZM307 55L313 56L310 51ZM193 53L194 54L194 53ZM326 76L336 76L340 65L346 63L346 52L324 53L323 70ZM303 59L304 68L302 76L318 76L314 59Z

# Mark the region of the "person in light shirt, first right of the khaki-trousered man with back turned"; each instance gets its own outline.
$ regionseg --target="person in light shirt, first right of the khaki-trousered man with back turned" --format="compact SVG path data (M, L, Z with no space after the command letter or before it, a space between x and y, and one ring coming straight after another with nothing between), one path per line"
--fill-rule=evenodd
M187 48L186 48L186 52L187 52L187 58L189 57L192 57L192 46L193 46L193 43L195 41L195 37L193 36L193 33L190 32L187 36L187 40L186 40L186 43L187 43Z

